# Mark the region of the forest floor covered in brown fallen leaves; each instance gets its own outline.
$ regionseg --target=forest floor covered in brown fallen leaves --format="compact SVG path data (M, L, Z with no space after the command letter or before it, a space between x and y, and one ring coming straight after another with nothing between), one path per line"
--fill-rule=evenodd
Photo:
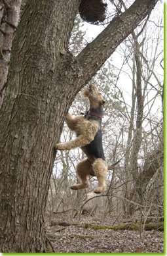
M54 220L54 218L52 218ZM56 222L67 222L57 217ZM76 223L74 221L74 223ZM114 221L114 217L102 218L82 215L79 223L117 226L122 222ZM56 253L163 253L164 232L158 230L94 230L84 226L52 226L47 223L46 233ZM77 237L77 235L79 235ZM92 236L88 238L88 236Z

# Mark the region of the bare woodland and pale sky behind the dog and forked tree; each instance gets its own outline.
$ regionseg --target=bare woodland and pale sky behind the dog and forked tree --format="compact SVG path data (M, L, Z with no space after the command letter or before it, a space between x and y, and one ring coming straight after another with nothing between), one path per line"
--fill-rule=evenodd
M162 12L162 3L159 3L158 8L152 13L154 16L152 21L149 17L149 20L143 22L132 35L126 38L91 81L98 86L107 101L103 117L103 147L107 163L115 163L121 159L119 167L107 175L106 197L98 198L94 195L96 198L84 206L89 208L91 205L90 209L95 208L96 211L103 209L106 215L107 212L111 212L111 209L112 211L117 209L120 215L122 213L127 217L137 212L139 214L140 211L141 215L144 215L143 209L139 209L140 203L144 201L144 205L148 203L149 206L149 211L146 207L145 217L143 216L147 218L152 215L151 212L156 205L153 201L152 203L149 201L152 195L156 200L160 199L160 196L157 197L158 190L162 196L160 205L163 205ZM85 37L91 35L88 30L90 26L94 25L85 26L80 18L76 20L70 43L70 49L74 55L77 55L85 44L91 41L91 38ZM136 55L139 55L139 59ZM141 84L137 85L137 80L142 81ZM80 115L86 110L88 110L88 101L83 100L78 94L69 112L73 115ZM68 141L72 138L75 138L75 135L65 126L61 141ZM155 160L155 155L160 158L156 157ZM69 186L77 182L75 166L83 158L84 154L81 149L58 152L52 174L50 209L51 211L55 209L56 211L62 211L62 209L69 211L71 213L68 213L68 217L72 219L83 205L83 199L84 201L87 197L89 199L92 191L88 188L77 193L79 203L79 208L77 208L76 201L72 199L76 192L71 192ZM161 171L157 172L158 161L160 161ZM135 172L132 171L132 166ZM160 176L155 176L155 170ZM91 181L93 188L96 186L96 178L91 178ZM155 185L155 182L160 182L160 184ZM62 188L64 188L63 193ZM152 191L153 188L154 190L156 188L156 196ZM52 193L52 190L55 190L56 194ZM62 195L58 195L59 192ZM59 202L53 198L54 195L59 198ZM78 201L79 197L81 201ZM75 203L75 206L69 205L69 201ZM163 213L160 205L157 205L156 211L161 209L160 212Z

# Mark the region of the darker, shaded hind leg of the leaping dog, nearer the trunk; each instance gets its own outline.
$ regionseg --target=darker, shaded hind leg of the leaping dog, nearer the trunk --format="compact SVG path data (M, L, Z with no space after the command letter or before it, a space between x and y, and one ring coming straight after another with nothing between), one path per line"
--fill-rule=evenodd
M76 184L71 186L71 190L81 190L82 188L88 188L88 176L90 172L92 172L92 165L88 159L84 159L80 163L78 163L76 167L76 172L81 184Z

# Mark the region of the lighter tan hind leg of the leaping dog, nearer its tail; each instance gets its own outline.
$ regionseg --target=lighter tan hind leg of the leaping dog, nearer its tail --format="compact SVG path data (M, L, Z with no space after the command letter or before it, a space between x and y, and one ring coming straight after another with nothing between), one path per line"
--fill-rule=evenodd
M106 172L108 170L107 164L102 158L98 158L92 165L94 174L98 179L98 187L94 189L94 193L102 193L106 188Z

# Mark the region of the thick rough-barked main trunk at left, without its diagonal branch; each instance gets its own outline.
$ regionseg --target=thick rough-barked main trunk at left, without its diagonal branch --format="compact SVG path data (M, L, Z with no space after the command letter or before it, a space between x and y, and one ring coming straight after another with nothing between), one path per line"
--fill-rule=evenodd
M69 16L75 18L77 12L76 1L54 5L54 1L40 5L29 1L14 38L8 76L12 93L1 109L0 229L8 241L1 239L3 252L46 250L43 216L54 145L69 106L65 97L71 92L69 77L64 84L61 78L70 55L64 58L60 51L65 51L73 28Z

